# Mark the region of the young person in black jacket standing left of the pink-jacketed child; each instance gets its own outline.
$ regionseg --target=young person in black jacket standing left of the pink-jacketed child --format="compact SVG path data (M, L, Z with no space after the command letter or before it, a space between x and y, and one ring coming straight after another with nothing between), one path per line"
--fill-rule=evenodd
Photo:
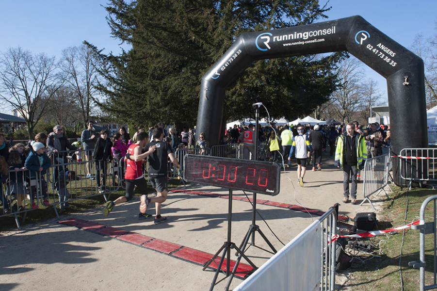
M106 168L108 159L112 161L113 155L111 148L113 143L108 139L108 130L102 129L100 137L97 139L94 148L93 159L96 161L96 179L98 191L102 192L106 188Z

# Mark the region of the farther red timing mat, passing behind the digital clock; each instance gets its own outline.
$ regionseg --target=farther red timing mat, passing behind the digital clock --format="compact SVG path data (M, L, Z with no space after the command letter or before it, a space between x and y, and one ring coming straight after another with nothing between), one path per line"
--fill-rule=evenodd
M219 197L219 198L229 198L229 195L227 194L216 194L216 193L209 193L209 192L202 192L202 191L192 191L192 190L170 190L169 192L173 193L186 193L186 194L196 194L196 195L202 195L202 196L209 196L209 197ZM252 198L246 198L242 196L232 196L232 200L240 200L244 202L252 202ZM257 199L257 204L263 204L263 205L269 205L269 206L275 206L280 208L287 208L295 211L302 211L307 212L314 215L322 216L324 215L324 211L316 210L316 209L310 209L305 208L299 205L293 205L293 204L287 204L287 203L281 203L281 202L275 202L275 201L269 201L269 200L263 200L263 199ZM339 215L339 220L343 222L349 221L349 218L343 215Z

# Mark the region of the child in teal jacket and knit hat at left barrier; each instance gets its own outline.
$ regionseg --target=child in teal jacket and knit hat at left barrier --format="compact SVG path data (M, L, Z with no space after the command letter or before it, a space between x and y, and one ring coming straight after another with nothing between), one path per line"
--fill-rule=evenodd
M43 195L43 204L45 206L49 206L49 200L47 195L47 188L46 188L46 180L44 179L44 175L46 174L47 169L49 169L51 162L49 157L44 152L45 146L42 143L35 142L32 144L32 151L29 153L29 156L26 159L26 162L24 162L24 166L26 169L29 170L30 179L35 180L38 184L41 182L40 189L41 194ZM38 179L40 179L38 181ZM32 209L37 209L38 205L36 205L35 197L38 193L38 189L36 186L31 185L31 200L32 200Z

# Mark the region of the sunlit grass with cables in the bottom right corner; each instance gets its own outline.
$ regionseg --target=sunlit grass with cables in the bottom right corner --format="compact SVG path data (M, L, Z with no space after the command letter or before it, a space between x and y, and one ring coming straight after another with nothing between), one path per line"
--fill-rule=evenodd
M390 200L384 203L383 210L378 213L378 228L390 229L419 220L422 202L436 190L400 189L393 187ZM430 202L425 211L427 222L434 220L434 204ZM347 248L346 251L356 258L349 270L348 280L340 290L419 290L419 270L408 266L408 262L419 260L419 230L407 229L405 232L381 235L358 242L372 244L372 255L359 253ZM433 284L434 269L434 236L425 236L425 285ZM374 256L374 257L373 257Z

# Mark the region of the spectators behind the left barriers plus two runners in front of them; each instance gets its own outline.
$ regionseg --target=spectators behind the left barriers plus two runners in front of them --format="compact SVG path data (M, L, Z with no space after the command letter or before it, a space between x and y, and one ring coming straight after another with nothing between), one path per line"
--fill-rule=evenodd
M194 142L194 135L195 128L189 130L184 128L179 134L174 128L167 130L163 123L159 123L147 132L143 127L139 127L132 138L127 130L121 127L110 138L108 130L97 132L94 123L89 121L87 129L81 133L82 149L80 143L71 144L68 141L65 129L59 125L53 127L53 131L48 135L44 132L36 134L34 140L27 145L19 143L10 148L5 142L4 135L0 133L0 195L3 213L25 210L26 206L23 202L26 194L30 194L30 208L38 208L37 201L35 203L37 194L43 197L42 204L49 206L48 183L44 177L50 167L53 167L52 187L58 193L60 208L61 210L68 208L69 193L66 184L75 173L69 171L66 164L68 155L75 152L74 156L78 162L82 161L82 157L84 158L86 169L84 178L96 180L100 193L106 191L108 163L113 162L116 166L120 164L122 158L126 159L126 167L123 167L126 170L120 173L124 175L126 195L115 201L109 201L103 211L105 216L116 204L131 200L134 188L137 187L142 194L141 201L144 202L140 207L139 218L151 217L146 213L145 205L154 202L155 224L161 223L165 221L165 217L161 216L161 203L166 200L167 194L167 160L179 167L174 155L176 149L209 146L203 132L200 133L197 143ZM157 191L157 196L153 198L147 198L147 185L142 171L142 164L146 157L149 161L148 178ZM92 171L93 166L95 175ZM35 186L37 183L33 183L34 185L29 189L29 185L32 184L28 182L31 179L38 180L38 189ZM113 183L116 186L115 179ZM5 184L7 187L3 187ZM4 189L6 193L3 193ZM9 199L12 195L16 200L14 205L11 205Z

